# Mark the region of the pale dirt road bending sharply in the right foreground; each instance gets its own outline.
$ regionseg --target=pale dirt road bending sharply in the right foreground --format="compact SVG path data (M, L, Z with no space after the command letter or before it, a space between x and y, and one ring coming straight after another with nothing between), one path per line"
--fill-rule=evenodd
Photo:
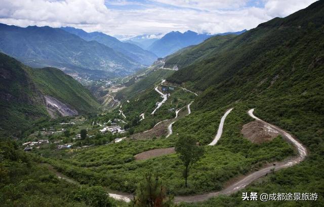
M225 189L218 191L218 192L211 192L211 193L206 193L206 194L201 194L201 195L191 195L191 196L176 196L175 197L175 202L199 202L199 201L205 201L208 200L211 197L217 196L217 195L230 195L232 193L235 193L241 189L243 189L245 186L249 185L256 179L265 176L268 173L271 173L272 170L278 171L280 169L284 168L289 168L293 165L296 165L300 162L302 162L306 156L307 156L307 149L297 140L295 139L291 134L287 133L285 130L280 129L277 126L274 126L272 124L269 124L256 116L253 115L254 109L251 109L248 113L249 115L264 123L265 125L277 130L280 132L281 136L284 137L287 141L291 142L298 150L298 156L294 157L292 159L283 161L283 162L275 162L273 166L269 167L264 167L260 169L259 171L256 171L254 173L251 173L244 178L240 179L239 181L235 182L234 184L231 184L230 186L226 187Z

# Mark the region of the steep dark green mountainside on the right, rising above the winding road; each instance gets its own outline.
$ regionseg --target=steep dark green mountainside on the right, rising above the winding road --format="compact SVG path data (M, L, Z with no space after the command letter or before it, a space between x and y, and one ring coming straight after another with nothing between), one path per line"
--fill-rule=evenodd
M206 137L214 134L207 133L209 125L203 123L213 122L213 112L230 107L234 110L256 108L258 117L291 132L309 150L309 156L301 164L268 175L237 194L185 206L261 204L242 202L242 192L324 193L321 170L324 168L323 54L324 1L318 1L286 18L275 18L226 41L217 50L201 56L203 59L168 78L170 82L201 91L192 104L193 113L175 123L174 133L193 134L205 144L210 141ZM237 121L233 120L234 116L230 115L228 122ZM242 143L239 134L226 132L226 126L224 136L235 140L236 146ZM233 152L244 153L245 150L237 147ZM268 204L300 205L298 201L289 202ZM319 203L308 202L307 205Z

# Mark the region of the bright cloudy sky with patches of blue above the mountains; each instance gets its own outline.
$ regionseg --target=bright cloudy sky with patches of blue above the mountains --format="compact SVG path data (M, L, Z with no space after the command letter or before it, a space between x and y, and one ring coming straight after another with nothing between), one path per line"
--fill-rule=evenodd
M192 30L211 34L251 29L314 0L0 0L0 22L73 26L118 37Z

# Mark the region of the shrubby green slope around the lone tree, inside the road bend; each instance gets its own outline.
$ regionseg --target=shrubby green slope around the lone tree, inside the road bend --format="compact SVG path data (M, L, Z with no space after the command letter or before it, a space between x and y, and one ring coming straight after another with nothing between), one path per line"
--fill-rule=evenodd
M102 185L112 190L134 193L144 173L159 172L161 181L168 192L177 194L197 194L221 189L226 181L241 174L259 169L268 162L279 161L293 156L293 147L280 137L270 142L253 144L240 134L242 125L251 121L247 114L248 107L234 107L228 115L223 136L215 146L204 146L204 156L196 162L188 176L188 188L183 182L183 165L177 154L135 161L140 152L155 148L176 146L178 135L189 137L195 134L187 127L204 131L211 127L206 139L211 141L216 134L221 116L221 109L206 116L207 126L199 125L200 117L195 112L174 124L174 134L168 138L147 140L124 140L118 143L72 148L53 151L40 148L34 153L43 154L58 171L82 184ZM190 122L187 123L187 121ZM201 143L202 141L199 140ZM215 159L217 158L217 159Z

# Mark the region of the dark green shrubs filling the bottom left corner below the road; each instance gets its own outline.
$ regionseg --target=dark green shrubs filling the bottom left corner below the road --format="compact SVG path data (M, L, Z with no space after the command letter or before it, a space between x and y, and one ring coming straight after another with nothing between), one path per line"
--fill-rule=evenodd
M57 178L13 141L0 141L2 206L115 206L101 186L82 186Z

